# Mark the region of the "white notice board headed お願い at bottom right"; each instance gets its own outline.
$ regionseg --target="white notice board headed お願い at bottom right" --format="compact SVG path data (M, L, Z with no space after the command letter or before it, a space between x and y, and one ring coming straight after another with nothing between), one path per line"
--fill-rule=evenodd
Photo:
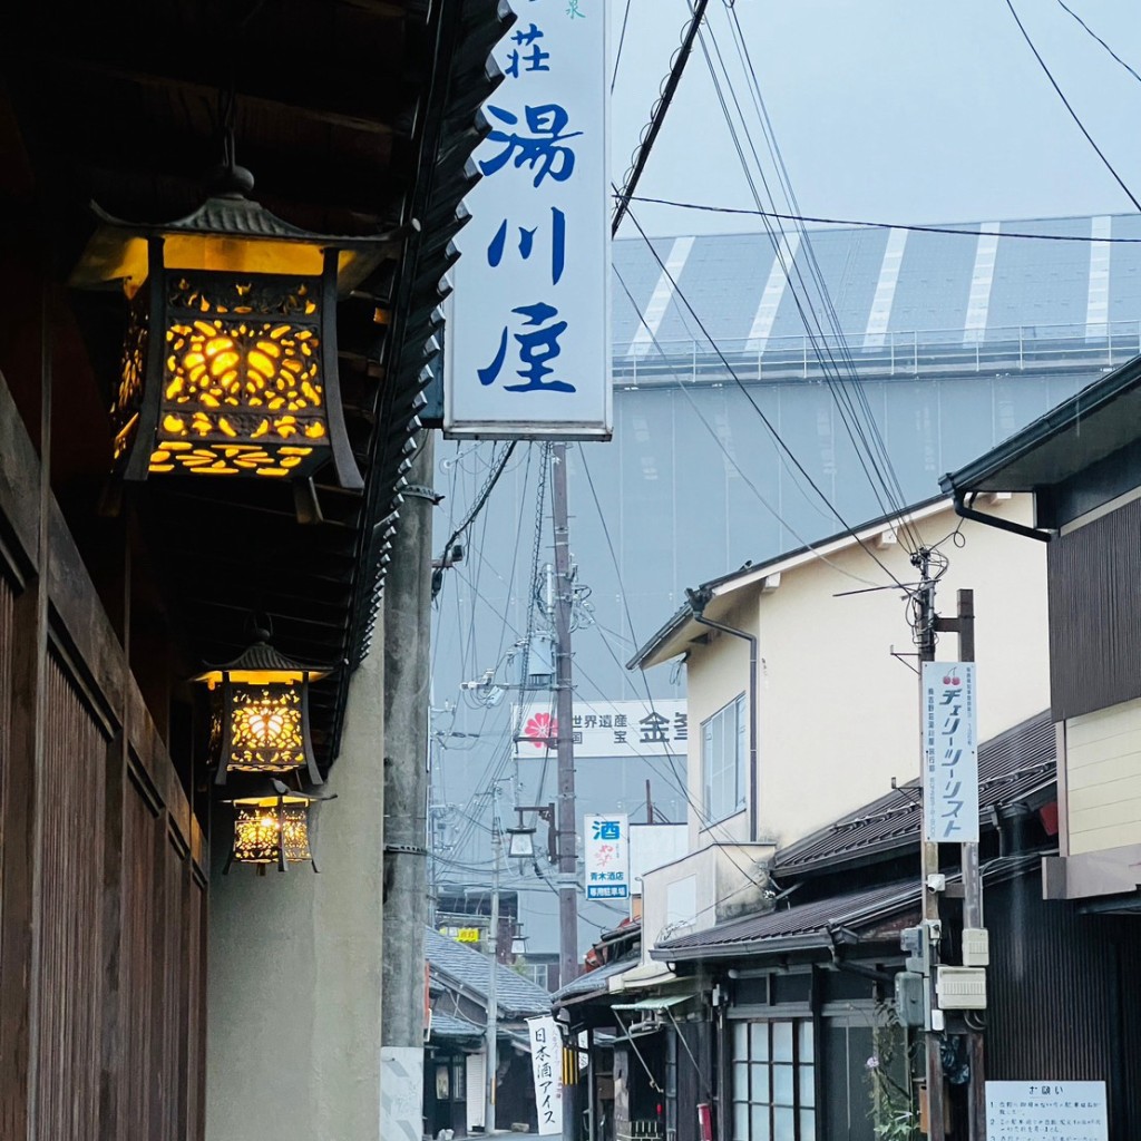
M987 1082L988 1141L1108 1141L1104 1082Z

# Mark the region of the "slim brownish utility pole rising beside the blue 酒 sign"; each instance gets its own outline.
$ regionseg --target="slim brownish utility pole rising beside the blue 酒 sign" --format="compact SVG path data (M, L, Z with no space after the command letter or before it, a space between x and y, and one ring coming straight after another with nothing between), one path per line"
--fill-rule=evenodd
M555 685L558 711L556 747L559 771L559 986L578 976L577 820L574 793L574 689L570 677L570 542L567 511L567 446L556 444L551 456L551 512L555 524ZM574 1042L566 1042L574 1046ZM577 1059L577 1054L575 1055ZM578 1136L577 1085L563 1090L563 1136Z

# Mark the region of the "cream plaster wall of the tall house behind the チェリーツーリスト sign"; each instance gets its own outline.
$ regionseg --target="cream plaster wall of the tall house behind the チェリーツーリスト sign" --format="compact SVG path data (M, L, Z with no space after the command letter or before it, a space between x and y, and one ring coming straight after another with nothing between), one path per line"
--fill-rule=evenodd
M978 504L1002 518L1030 523L1027 496ZM949 534L962 523L962 547ZM953 615L956 590L974 590L979 663L979 737L1046 709L1049 658L1044 544L960 520L950 509L921 524L925 542L950 558L937 608ZM901 542L890 533L868 547L904 583L915 582ZM785 569L779 585L739 591L723 616L760 632L758 681L758 839L787 844L882 795L891 778L919 775L915 674L891 649L911 653L912 631L898 590L835 597L888 582L868 555L852 544ZM718 605L710 607L711 615ZM957 639L940 636L940 654L953 659ZM711 632L693 646L689 686L689 791L701 804L701 723L746 688L747 644ZM695 815L695 814L694 814ZM744 814L703 828L690 817L690 841L743 840ZM647 904L648 906L648 904Z

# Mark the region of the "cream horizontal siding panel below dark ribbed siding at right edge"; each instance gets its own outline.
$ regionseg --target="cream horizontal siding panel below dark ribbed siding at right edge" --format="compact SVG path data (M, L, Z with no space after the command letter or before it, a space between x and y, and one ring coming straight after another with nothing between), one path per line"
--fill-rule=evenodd
M1141 844L1141 701L1066 722L1069 853Z

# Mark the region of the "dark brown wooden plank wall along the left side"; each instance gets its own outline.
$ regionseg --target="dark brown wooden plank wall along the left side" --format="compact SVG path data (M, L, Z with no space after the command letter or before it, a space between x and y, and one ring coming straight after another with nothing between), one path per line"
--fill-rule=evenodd
M5 1141L201 1141L205 861L0 377Z

